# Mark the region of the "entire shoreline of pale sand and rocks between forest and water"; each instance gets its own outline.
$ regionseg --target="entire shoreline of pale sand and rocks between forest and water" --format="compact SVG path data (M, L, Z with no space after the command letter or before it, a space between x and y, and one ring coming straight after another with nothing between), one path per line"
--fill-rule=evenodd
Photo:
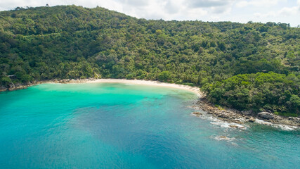
M231 128L244 129L244 123L260 123L263 125L271 125L274 127L281 127L286 130L296 130L300 128L300 118L295 117L282 117L279 115L273 115L272 119L265 119L259 117L256 113L251 111L237 111L231 108L220 108L216 107L213 104L209 103L204 97L204 93L200 91L199 87L190 87L183 84L172 84L167 82L151 81L151 80L126 80L126 79L84 79L84 80L45 80L33 82L27 85L17 84L9 89L0 89L0 92L3 91L13 91L17 89L25 89L27 87L44 84L44 83L123 83L123 84L139 84L139 85L149 85L157 87L169 87L175 89L183 89L189 92L193 92L197 95L198 100L191 106L195 110L192 115L200 117L203 113L199 111L204 111L207 114L212 115L215 120L221 120L223 122L229 123Z

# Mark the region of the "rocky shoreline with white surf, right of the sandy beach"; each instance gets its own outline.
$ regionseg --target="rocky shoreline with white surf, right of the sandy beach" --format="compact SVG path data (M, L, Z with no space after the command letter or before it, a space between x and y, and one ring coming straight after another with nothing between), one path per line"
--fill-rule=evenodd
M290 129L300 129L300 118L282 117L268 112L256 114L252 111L237 111L231 108L219 108L209 103L209 101L205 98L198 100L195 104L193 104L192 108L195 109L195 112L192 114L197 117L202 115L200 111L204 111L214 116L214 118L232 124L229 126L233 128L242 129L242 124L249 122L261 123L264 125L284 125Z

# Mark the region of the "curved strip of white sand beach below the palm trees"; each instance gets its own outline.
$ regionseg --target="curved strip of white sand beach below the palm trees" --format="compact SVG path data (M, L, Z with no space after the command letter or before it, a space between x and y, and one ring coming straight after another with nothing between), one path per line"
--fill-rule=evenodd
M190 87L188 85L182 84L171 84L166 82L158 82L158 81L149 81L149 80L125 80L125 79L98 79L87 81L87 83L124 83L124 84L142 84L142 85L150 85L150 86L158 86L158 87L171 87L176 89L184 89L190 92L197 94L200 98L203 96L202 92L200 92L199 87Z

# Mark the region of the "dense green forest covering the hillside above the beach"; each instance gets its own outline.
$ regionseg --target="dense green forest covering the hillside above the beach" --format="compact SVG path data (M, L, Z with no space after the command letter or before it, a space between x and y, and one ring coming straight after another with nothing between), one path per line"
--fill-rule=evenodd
M299 115L300 29L133 18L105 8L0 12L0 84L126 78L202 87L239 110Z

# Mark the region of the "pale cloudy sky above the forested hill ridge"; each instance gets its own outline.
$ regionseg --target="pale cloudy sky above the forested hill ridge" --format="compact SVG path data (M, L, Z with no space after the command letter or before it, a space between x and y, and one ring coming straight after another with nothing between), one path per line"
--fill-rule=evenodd
M0 11L17 6L101 6L136 18L290 23L300 25L300 0L1 0Z

